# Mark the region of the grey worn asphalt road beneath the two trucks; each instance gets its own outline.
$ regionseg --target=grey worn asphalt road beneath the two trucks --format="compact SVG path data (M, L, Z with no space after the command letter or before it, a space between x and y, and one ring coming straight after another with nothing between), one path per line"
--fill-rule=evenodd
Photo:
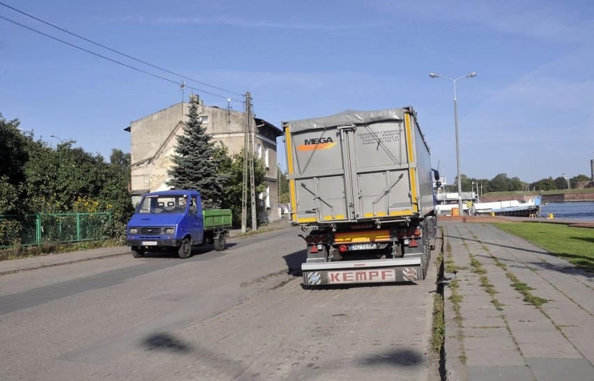
M439 380L434 262L418 284L303 289L298 233L4 274L2 379Z

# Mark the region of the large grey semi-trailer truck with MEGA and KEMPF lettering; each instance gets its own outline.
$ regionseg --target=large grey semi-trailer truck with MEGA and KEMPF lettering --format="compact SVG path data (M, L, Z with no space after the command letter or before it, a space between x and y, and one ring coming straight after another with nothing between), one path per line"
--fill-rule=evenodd
M439 173L413 108L344 111L282 126L290 218L307 247L304 285L425 279Z

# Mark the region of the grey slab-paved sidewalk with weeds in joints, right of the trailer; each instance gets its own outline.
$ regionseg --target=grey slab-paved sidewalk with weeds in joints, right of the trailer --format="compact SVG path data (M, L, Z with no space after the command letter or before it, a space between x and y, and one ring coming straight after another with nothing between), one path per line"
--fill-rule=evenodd
M442 221L462 267L444 290L448 380L594 380L594 274L491 224ZM524 302L514 277L547 302Z

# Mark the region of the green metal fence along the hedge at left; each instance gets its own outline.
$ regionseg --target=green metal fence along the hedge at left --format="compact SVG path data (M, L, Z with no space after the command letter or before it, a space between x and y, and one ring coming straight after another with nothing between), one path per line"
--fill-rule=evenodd
M51 215L0 215L0 248L40 246L46 242L82 242L108 238L111 212Z

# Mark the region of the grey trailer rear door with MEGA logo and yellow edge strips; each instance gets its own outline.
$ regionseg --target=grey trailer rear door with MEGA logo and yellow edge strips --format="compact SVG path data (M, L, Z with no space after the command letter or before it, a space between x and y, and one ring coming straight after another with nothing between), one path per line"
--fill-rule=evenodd
M297 222L360 221L418 212L411 116L402 109L388 111L400 112L285 123Z

